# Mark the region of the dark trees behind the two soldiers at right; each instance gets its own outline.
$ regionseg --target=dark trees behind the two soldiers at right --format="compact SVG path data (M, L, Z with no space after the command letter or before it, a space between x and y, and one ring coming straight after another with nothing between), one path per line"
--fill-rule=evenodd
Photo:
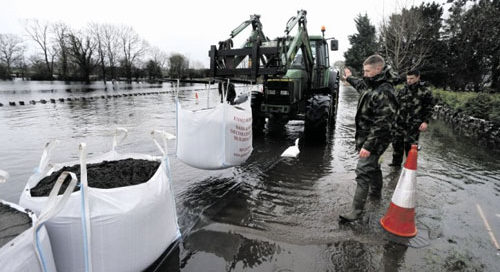
M447 15L443 16L443 8ZM447 0L403 8L378 27L356 19L345 64L361 72L378 53L404 76L418 68L425 81L454 91L500 92L500 0Z

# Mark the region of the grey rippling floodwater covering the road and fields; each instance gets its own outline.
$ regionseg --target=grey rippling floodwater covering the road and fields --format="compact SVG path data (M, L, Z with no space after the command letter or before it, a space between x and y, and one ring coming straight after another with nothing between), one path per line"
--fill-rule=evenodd
M182 87L183 106L206 107L205 87ZM17 202L50 140L61 141L54 161L74 160L78 143L86 142L93 154L105 152L113 128L125 127L129 136L118 151L159 154L149 132L175 133L172 90L169 84L120 83L106 91L102 83L89 88L1 82L0 169L11 177L0 184L0 198ZM113 97L124 93L146 95ZM209 93L208 104L214 105L217 91ZM98 98L8 106L9 101L67 97ZM194 169L178 161L171 148L182 239L150 270L498 271L500 253L478 206L500 240L500 152L461 137L440 120L421 135L418 154L416 222L428 246L402 245L380 227L400 174L387 166L390 148L382 156L383 199L368 201L360 222L339 224L356 186L357 97L352 88L341 88L336 127L327 142L302 142L297 158L280 154L302 137L300 121L287 124L282 135L255 138L252 156L240 167Z

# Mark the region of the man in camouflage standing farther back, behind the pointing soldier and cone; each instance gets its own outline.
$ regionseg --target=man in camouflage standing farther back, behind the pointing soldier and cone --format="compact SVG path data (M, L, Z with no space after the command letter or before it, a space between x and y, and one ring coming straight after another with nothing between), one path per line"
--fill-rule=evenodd
M418 70L409 71L406 84L397 92L399 110L396 117L396 127L393 132L392 163L390 166L401 167L403 153L408 156L412 144L418 144L420 132L427 130L432 116L434 100L429 88L420 81Z

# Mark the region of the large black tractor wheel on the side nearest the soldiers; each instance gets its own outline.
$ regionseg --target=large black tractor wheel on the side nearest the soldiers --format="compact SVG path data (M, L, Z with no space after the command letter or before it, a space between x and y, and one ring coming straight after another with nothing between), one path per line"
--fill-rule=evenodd
M333 119L330 95L316 94L306 103L304 132L307 138L323 139L326 137L328 124Z

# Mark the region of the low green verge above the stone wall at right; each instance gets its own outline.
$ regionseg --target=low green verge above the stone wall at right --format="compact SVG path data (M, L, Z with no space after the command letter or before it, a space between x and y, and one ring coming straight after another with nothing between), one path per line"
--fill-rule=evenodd
M432 90L439 104L467 115L500 124L500 94Z

